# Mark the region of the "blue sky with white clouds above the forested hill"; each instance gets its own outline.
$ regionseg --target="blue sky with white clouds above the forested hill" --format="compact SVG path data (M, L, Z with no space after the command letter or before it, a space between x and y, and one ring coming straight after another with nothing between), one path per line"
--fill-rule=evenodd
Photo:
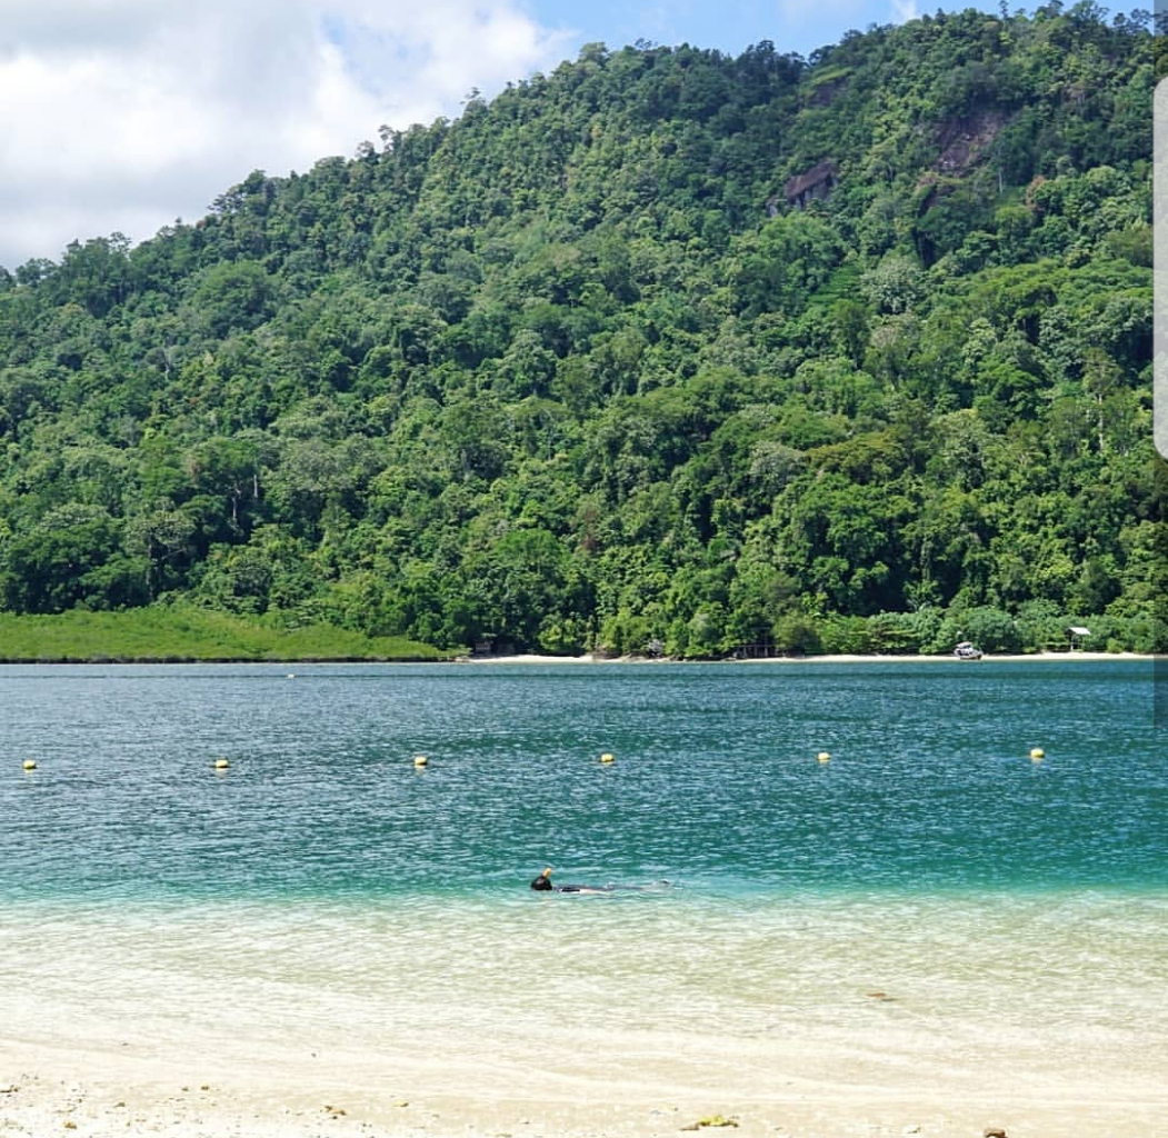
M968 4L943 4L961 8ZM996 11L994 4L975 4ZM930 2L925 11L937 11ZM0 0L0 265L196 221L585 43L808 55L916 0Z

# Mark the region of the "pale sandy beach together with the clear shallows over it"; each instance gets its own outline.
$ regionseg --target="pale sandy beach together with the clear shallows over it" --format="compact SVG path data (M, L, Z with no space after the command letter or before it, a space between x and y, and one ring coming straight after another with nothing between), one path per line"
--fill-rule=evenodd
M492 921L487 943L487 925L470 938L481 959L505 962L485 972L445 939L442 916L399 949L404 925L306 923L301 911L299 941L278 924L100 915L42 937L33 917L5 942L14 974L26 962L37 983L13 985L0 1025L0 1133L680 1138L725 1125L737 1138L988 1127L1147 1138L1168 1127L1168 1023L1154 1007L1140 1014L1162 897L1136 914L1089 909L1103 931L1085 941L1063 900L988 921L980 905L906 902L885 922L880 903L825 903L818 916L792 909L743 928L739 943L719 941L723 921L684 916L670 927L684 936L654 941L652 925L613 910L527 911L526 923ZM590 938L577 950L580 930ZM647 939L648 971L621 973ZM703 945L715 953L704 963ZM1089 945L1119 953L1113 974L1082 963ZM500 987L500 967L538 977L540 992L506 976ZM762 988L745 978L710 991L725 971L759 967L771 977ZM411 970L420 987L402 983ZM672 979L638 1009L661 970Z

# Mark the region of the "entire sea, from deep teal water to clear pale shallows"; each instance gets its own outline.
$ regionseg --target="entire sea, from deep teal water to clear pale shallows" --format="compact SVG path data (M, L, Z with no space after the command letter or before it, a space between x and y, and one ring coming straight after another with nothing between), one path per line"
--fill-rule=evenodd
M619 1038L715 1105L1168 1063L1149 661L8 667L0 716L0 1052L570 1097Z

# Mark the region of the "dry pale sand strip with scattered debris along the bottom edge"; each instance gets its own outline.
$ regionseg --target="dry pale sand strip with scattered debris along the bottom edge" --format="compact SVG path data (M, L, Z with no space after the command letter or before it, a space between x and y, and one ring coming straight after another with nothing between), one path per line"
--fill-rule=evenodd
M429 1055L404 1066L347 1056L355 1068L332 1064L324 1076L324 1063L241 1073L206 1059L28 1050L5 1042L0 1069L12 1075L0 1085L0 1133L658 1138L701 1131L743 1138L975 1138L1000 1127L1009 1138L1149 1138L1168 1126L1162 1085L1097 1076L1089 1056L1082 1056L1083 1067L1004 1070L992 1025L983 1063L955 1071L926 1062L891 1077L885 1071L878 1083L865 1081L874 1073L862 1061L849 1063L841 1053L832 1063L820 1056L821 1078L779 1077L763 1088L745 1085L728 1070L722 1090L689 1088L677 1076L693 1041L679 1040L680 1054L662 1055L652 1067L623 1064L620 1042L611 1041L611 1059L582 1055L573 1074L534 1066L522 1087L506 1077L493 1083L486 1054L478 1062ZM786 1060L792 1069L806 1067L799 1040L772 1049L767 1066L777 1075ZM746 1054L743 1066L756 1070L757 1057Z

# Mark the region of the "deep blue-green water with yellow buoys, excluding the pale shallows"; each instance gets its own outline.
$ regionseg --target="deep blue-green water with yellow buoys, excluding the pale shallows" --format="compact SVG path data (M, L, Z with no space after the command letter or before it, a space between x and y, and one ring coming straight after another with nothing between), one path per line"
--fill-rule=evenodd
M0 671L0 897L1168 880L1147 661L288 671Z

